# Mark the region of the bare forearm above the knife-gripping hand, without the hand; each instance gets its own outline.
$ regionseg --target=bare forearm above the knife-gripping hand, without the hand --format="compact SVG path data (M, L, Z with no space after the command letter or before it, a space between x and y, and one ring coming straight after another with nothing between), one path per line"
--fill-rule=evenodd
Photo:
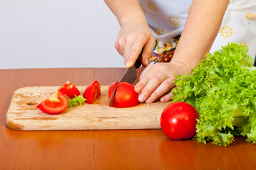
M138 0L105 0L112 13L117 17L120 26L132 20L146 23L146 18Z

